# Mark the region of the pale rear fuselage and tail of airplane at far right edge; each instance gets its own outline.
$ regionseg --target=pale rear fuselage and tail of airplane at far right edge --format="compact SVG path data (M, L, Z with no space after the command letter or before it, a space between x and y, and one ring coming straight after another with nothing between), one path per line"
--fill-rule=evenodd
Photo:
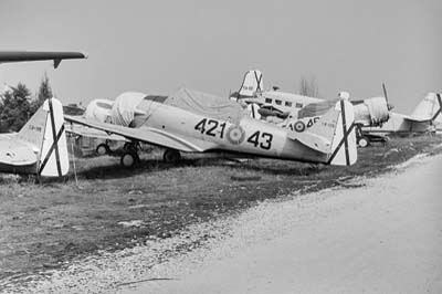
M442 130L442 98L440 93L429 93L411 115L391 113L380 127L364 127L368 134L422 134Z

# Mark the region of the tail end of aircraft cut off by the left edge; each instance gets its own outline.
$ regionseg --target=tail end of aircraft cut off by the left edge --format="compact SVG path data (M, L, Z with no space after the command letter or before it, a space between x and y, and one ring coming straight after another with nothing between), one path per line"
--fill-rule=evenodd
M63 106L50 98L19 133L0 134L0 171L61 177L69 171Z

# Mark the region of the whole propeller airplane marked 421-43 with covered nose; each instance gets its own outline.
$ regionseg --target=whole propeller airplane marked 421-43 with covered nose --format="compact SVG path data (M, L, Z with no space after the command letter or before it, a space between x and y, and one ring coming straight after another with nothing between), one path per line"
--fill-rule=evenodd
M137 102L127 103L127 102ZM170 96L124 93L115 101L117 124L65 116L82 124L138 141L166 148L164 159L176 161L180 151L223 151L329 165L352 165L357 160L354 111L339 101L315 126L304 133L291 132L250 117L235 102L182 88ZM136 148L122 156L133 166Z

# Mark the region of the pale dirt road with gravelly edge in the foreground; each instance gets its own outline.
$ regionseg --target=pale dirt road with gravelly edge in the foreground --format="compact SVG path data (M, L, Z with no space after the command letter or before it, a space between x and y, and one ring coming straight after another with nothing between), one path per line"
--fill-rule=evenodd
M202 262L120 293L442 293L442 156L415 161L366 187L263 203Z

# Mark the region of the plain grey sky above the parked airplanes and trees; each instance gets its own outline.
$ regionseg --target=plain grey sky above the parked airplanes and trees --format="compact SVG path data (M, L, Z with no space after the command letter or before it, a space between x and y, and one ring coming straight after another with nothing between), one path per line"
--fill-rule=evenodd
M442 1L0 1L0 50L81 50L85 61L2 64L33 92L44 72L63 103L181 86L228 96L246 70L323 97L381 95L410 113L442 91Z

